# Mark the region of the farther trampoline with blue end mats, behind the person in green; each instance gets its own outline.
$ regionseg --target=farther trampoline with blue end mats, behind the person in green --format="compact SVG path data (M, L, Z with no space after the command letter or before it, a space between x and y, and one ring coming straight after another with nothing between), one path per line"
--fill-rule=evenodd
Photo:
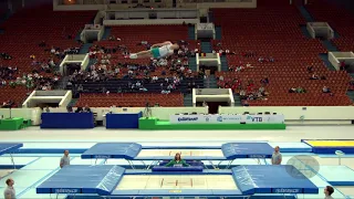
M133 160L143 163L146 169L158 165L162 160L171 159L176 153L180 153L185 160L208 160L216 169L227 160L227 168L238 158L271 158L273 148L268 143L227 143L221 147L146 147L136 143L100 143L81 155L82 159L126 159L135 169ZM153 160L146 165L144 160ZM219 160L214 165L212 160Z

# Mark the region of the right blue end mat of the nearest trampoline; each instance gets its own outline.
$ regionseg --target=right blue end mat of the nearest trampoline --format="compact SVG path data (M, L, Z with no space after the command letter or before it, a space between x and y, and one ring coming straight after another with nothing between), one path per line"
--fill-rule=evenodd
M319 188L293 166L252 165L231 170L243 195L319 193Z

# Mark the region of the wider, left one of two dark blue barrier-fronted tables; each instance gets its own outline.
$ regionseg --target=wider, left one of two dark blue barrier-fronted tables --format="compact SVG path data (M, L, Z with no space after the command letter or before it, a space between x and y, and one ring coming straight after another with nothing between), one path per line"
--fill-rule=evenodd
M42 113L41 128L94 128L93 113Z

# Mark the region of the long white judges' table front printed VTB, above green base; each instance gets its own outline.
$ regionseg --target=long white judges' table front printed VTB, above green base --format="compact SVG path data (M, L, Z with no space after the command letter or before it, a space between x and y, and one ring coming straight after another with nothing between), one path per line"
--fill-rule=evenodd
M284 115L170 115L170 124L283 124Z

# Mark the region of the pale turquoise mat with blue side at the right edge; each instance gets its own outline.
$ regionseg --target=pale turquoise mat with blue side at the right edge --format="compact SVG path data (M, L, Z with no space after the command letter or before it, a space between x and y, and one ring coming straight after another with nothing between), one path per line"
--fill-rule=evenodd
M354 170L346 166L321 166L319 175L332 186L354 186Z

